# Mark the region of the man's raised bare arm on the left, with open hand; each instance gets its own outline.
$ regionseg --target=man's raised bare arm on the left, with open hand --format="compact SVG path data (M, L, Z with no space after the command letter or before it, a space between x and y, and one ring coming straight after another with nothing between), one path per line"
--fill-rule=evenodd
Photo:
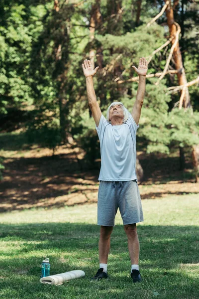
M91 61L86 59L86 60L84 60L84 63L82 64L82 68L84 71L84 75L86 77L89 106L91 108L92 115L93 115L94 121L96 123L96 126L98 127L100 124L101 110L98 105L96 93L94 90L93 76L97 73L99 66L97 66L95 69L93 69Z

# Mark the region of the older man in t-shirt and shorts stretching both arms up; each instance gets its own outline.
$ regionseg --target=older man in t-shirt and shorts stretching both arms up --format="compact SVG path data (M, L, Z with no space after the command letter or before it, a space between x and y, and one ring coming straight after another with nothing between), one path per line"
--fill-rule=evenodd
M130 114L121 102L113 102L107 110L106 119L101 114L93 85L93 76L99 67L93 69L90 60L82 64L86 77L89 106L96 123L100 139L101 168L98 192L98 225L100 225L99 258L100 269L94 280L107 278L107 259L110 249L110 235L115 214L119 207L128 239L131 259L131 278L141 282L139 272L139 239L136 223L143 221L143 212L136 176L136 131L143 105L147 60L142 57L139 66L132 66L139 76L136 101Z

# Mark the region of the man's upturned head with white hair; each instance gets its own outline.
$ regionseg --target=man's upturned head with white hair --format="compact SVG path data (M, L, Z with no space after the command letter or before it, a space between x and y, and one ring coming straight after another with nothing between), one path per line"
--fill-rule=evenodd
M129 114L130 113L121 102L113 102L107 109L106 119L110 123L113 118L121 119L124 124L127 121Z

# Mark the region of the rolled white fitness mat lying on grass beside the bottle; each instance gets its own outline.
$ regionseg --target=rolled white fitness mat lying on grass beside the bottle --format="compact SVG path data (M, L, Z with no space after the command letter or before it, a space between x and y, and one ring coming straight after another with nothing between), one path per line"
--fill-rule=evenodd
M42 277L40 279L40 283L59 286L59 285L62 285L64 282L70 281L71 279L81 278L84 276L85 276L84 271L74 270L74 271L70 271L70 272L65 272L65 273L60 273L60 274L56 274L56 275Z

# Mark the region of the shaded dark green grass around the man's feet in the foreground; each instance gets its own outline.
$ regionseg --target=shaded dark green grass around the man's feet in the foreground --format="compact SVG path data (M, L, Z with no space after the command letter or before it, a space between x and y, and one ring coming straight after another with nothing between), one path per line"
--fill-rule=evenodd
M44 294L45 298L53 299L133 299L132 290L141 299L154 298L154 290L161 298L197 298L198 279L180 266L198 263L197 226L138 225L143 283L136 286L129 278L130 259L122 225L116 225L111 235L109 280L100 283L90 281L99 267L98 225L1 224L0 229L0 287L5 299L15 298L16 294L25 299L43 298ZM60 287L41 285L39 265L44 256L50 258L51 275L79 269L86 277Z

